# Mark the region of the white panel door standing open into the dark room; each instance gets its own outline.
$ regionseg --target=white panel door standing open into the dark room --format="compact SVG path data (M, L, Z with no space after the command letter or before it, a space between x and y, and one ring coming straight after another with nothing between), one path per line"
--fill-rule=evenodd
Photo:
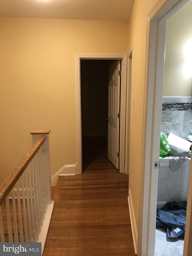
M109 65L108 83L108 158L119 169L119 118L120 110L120 76L121 61Z

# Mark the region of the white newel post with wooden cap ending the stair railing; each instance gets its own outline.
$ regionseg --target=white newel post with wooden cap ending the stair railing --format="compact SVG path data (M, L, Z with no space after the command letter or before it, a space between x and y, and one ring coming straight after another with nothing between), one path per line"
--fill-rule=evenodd
M32 131L33 145L42 135L46 136L46 140L42 145L42 163L44 176L45 203L51 203L51 173L50 173L50 152L49 152L49 130Z

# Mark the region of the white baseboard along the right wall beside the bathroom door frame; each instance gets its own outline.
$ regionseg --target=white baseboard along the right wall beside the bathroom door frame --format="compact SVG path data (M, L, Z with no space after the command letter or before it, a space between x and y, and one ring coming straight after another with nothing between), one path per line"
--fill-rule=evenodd
M131 220L131 231L133 236L134 250L135 250L135 254L137 254L138 234L137 234L137 226L135 221L135 214L133 209L133 202L132 202L130 188L129 188L129 196L128 196L128 205L129 205L129 215Z

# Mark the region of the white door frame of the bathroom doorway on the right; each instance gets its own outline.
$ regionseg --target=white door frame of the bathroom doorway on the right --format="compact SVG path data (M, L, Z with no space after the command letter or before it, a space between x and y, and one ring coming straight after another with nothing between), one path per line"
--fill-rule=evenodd
M157 204L161 108L163 96L164 54L167 19L189 0L160 0L147 17L146 70L143 105L143 134L141 155L141 189L138 234L139 256L154 256ZM189 252L189 232L192 199L192 164L190 162L187 218L183 255ZM155 207L155 209L154 209Z

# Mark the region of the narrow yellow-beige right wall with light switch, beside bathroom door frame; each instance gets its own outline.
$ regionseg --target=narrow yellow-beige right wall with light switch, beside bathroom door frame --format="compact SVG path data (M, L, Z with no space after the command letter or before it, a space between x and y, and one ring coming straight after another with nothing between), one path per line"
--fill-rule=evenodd
M143 130L147 14L157 2L157 0L135 0L129 22L128 50L133 43L132 97L135 97L134 108L131 108L131 168L129 170L129 179L137 232L139 232L140 176L141 171L144 171L141 170L141 135Z

